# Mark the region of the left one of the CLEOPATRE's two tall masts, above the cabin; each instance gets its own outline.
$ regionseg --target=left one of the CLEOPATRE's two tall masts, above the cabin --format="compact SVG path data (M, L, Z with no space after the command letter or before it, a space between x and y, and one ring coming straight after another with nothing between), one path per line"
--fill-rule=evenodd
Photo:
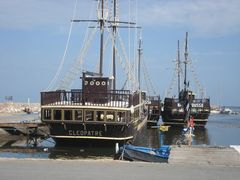
M102 67L103 67L103 40L104 40L104 0L100 0L101 2L101 17L99 19L100 23L100 66L99 66L99 74L102 76Z

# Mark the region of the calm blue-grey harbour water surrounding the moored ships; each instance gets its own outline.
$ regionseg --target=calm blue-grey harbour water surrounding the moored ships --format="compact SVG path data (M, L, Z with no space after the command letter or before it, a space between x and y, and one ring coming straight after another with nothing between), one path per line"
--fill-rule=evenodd
M192 139L194 145L240 145L240 107L231 107L236 115L214 114L210 115L205 128L196 128ZM2 117L1 117L2 118ZM5 117L6 118L6 117ZM22 118L36 119L36 115L9 116L13 121ZM2 119L1 119L2 120ZM158 129L144 129L137 137L135 144L147 147L159 147L161 144L173 145L182 138L182 127L171 127L168 132L160 133ZM115 147L55 147L53 139L38 140L37 147L33 141L21 137L20 139L0 139L0 157L14 158L113 158Z

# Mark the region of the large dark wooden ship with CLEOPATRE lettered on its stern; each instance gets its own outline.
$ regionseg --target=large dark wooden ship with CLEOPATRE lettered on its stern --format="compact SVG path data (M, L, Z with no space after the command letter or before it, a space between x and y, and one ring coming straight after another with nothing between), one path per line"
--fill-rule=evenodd
M57 145L114 145L134 141L139 131L146 125L151 99L139 87L135 89L116 88L117 44L116 32L119 24L132 26L135 23L121 22L116 17L117 0L112 1L114 17L107 18L106 0L98 1L96 28L100 29L99 72L83 71L81 89L58 88L41 92L41 120L48 125L50 136ZM88 20L73 20L85 22ZM112 69L111 76L103 73L104 29L111 27ZM130 27L133 28L133 27ZM129 68L130 66L126 66ZM131 70L128 69L131 81ZM132 74L131 74L132 75ZM139 83L140 84L140 83Z

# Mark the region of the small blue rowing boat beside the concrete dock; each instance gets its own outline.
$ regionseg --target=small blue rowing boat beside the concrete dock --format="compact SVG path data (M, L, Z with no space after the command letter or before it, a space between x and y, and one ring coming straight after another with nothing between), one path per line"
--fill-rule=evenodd
M134 145L124 145L120 148L120 159L130 161L145 161L167 163L170 146L161 146L160 148L148 148Z

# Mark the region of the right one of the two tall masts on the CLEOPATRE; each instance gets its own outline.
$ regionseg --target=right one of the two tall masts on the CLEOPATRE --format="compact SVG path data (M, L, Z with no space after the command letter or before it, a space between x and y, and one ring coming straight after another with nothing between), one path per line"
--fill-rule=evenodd
M116 89L116 24L117 18L117 0L113 0L113 90Z

